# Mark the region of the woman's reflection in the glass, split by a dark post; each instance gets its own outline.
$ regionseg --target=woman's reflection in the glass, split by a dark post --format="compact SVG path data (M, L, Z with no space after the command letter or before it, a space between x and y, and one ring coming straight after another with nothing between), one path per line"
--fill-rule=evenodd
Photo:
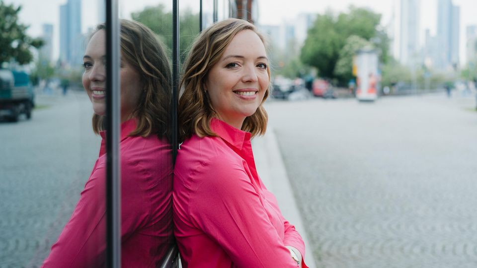
M101 24L91 36L82 77L93 130L103 138L99 158L44 267L105 265L105 34ZM123 267L156 267L173 240L170 70L154 33L134 21L121 20L121 56L121 261Z

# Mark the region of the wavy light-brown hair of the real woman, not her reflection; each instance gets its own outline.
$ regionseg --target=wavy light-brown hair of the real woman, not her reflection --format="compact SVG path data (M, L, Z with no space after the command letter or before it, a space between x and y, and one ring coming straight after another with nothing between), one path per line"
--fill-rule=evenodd
M205 29L194 41L192 48L182 67L182 79L179 88L182 90L178 107L179 141L192 134L207 136L216 134L210 129L210 121L217 117L208 94L204 91L210 69L221 59L232 39L243 30L252 30L265 45L265 39L255 26L245 20L230 18L213 24ZM267 67L270 84L270 68ZM242 130L256 134L265 134L268 115L262 104L269 94L266 89L262 103L256 112L245 118Z

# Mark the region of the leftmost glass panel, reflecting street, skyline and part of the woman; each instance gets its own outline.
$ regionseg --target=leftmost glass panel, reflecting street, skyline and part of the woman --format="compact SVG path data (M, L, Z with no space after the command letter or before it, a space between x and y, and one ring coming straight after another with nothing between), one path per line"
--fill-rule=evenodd
M104 114L105 70L98 51L87 52L88 64L81 66L99 8L95 1L84 8L80 0L6 0L0 8L10 4L22 7L18 23L30 25L25 33L43 46L31 49L31 58L26 51L0 59L0 266L39 267L47 256L46 267L104 264L104 229L98 228L105 226L104 172L91 174L101 168L101 137L91 129L91 116Z

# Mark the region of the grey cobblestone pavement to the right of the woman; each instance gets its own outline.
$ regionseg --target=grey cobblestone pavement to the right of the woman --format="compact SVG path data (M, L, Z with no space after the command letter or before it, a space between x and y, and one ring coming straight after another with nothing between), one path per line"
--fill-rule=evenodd
M318 267L477 267L474 97L266 109Z

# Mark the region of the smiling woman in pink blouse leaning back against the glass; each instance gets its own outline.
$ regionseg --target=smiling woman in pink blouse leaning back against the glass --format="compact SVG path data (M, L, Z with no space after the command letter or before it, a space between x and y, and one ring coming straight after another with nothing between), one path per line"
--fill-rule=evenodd
M192 46L173 190L184 268L302 266L302 238L258 177L250 145L265 133L269 82L263 38L244 20L218 22Z

